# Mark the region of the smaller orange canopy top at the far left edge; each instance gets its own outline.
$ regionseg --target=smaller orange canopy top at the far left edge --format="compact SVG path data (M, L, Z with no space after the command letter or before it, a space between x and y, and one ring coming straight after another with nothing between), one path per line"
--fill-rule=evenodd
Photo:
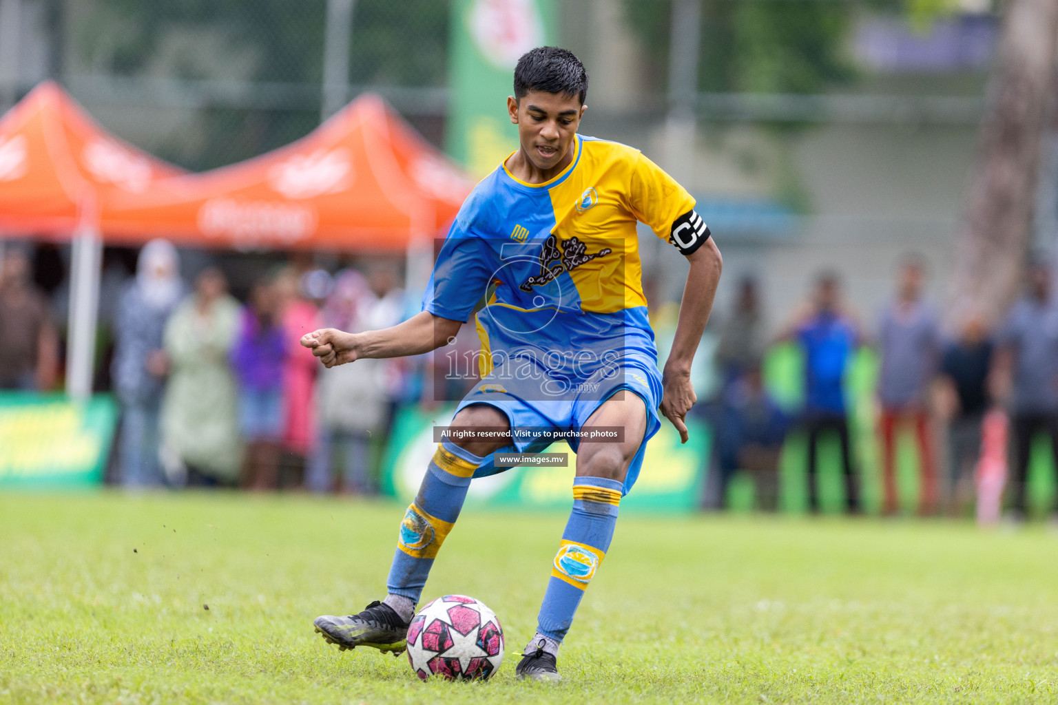
M144 196L175 166L110 135L53 81L0 118L0 234L69 238L101 202Z

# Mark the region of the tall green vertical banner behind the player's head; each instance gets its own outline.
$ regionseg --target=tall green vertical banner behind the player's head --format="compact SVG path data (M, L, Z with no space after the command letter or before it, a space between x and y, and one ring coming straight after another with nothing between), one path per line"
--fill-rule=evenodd
M449 59L449 154L485 177L518 148L507 116L514 67L553 43L553 0L453 0Z

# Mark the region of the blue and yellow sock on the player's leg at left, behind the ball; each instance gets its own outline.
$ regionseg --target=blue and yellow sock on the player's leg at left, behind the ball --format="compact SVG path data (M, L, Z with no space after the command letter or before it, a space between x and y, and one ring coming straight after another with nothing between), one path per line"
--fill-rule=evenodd
M414 611L419 601L434 558L459 517L471 478L482 460L451 441L445 440L437 446L419 494L404 514L397 552L386 579L387 604L405 607L399 612L406 611L408 604ZM390 599L394 596L411 602Z

